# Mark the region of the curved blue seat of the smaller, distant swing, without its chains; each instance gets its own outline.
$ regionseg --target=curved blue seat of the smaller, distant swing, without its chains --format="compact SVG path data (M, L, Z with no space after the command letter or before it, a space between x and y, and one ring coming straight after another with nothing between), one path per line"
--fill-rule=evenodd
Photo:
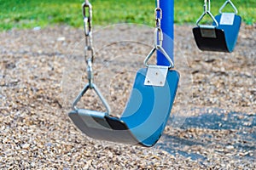
M202 51L233 52L241 26L241 16L234 14L232 24L220 22L223 14L215 16L218 26L213 22L212 26L197 26L193 28L193 34L197 47ZM207 32L211 32L208 34ZM210 35L210 36L209 36Z

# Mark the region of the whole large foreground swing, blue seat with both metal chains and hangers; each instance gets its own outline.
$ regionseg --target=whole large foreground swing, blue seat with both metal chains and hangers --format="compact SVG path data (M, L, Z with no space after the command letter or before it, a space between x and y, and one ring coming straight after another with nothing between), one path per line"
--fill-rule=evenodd
M166 1L167 2L167 1ZM168 1L170 3L170 1ZM85 8L89 8L89 17ZM160 28L162 17L160 1L155 8L156 28L154 31L154 48L150 51L144 65L137 71L125 111L122 116L110 115L110 107L102 94L93 83L92 63L93 48L90 32L91 5L85 0L83 5L84 33L86 46L85 60L87 63L88 83L73 102L73 111L68 113L73 123L93 139L108 140L124 144L139 144L153 146L163 133L166 122L172 111L173 101L177 93L179 74L173 69L174 65L169 54L162 48L163 32ZM91 53L88 53L90 51ZM148 60L158 51L169 65L148 65ZM87 55L90 58L87 59ZM80 99L88 90L94 90L106 107L106 111L91 111L77 107Z

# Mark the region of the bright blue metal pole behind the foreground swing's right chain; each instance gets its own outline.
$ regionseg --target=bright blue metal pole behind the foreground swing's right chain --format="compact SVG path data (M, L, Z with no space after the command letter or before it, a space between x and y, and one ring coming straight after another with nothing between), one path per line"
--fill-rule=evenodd
M174 39L174 0L160 0L163 18L161 28L164 33L163 48L173 60L173 39ZM157 52L157 65L170 65L168 60L159 51Z

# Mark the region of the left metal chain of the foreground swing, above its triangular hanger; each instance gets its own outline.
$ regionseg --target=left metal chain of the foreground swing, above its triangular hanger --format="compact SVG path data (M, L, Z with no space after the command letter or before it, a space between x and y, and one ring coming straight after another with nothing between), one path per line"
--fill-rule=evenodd
M87 64L87 79L90 84L90 88L93 86L93 71L92 63L94 59L94 48L92 46L92 31L91 31L91 22L92 22L92 5L89 0L85 0L83 5L83 18L84 18L84 38L85 38L85 47L84 47L84 60ZM86 10L88 8L88 10ZM87 14L88 13L88 14Z

